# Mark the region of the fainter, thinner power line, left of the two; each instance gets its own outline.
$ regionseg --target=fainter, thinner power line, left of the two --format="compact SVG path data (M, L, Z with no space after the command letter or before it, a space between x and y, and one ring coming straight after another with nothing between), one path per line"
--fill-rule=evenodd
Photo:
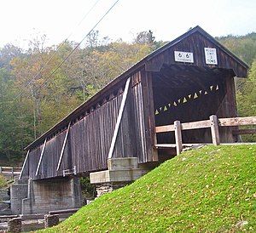
M79 24L78 24L77 26L75 26L75 28L77 28L78 26L81 25L81 23L82 23L82 22L84 21L84 19L88 16L88 14L90 14L90 12L96 7L96 4L97 4L99 1L100 1L100 0L97 0L96 3L94 3L93 6L89 9L89 11L87 11L87 13L84 14L84 17L82 18L82 20L79 21ZM73 35L73 32L74 32L74 30L71 31L71 33L67 36L67 38L58 46L58 48L55 50L54 54L52 54L52 55L50 56L49 60L47 60L47 62L46 62L46 63L44 64L44 66L38 71L38 73L37 73L34 77L32 77L32 79L31 79L30 81L26 82L24 88L26 88L27 86L29 86L29 85L41 74L41 72L44 70L44 68L49 64L49 61L51 61L51 60L54 58L55 54L57 54L57 52L58 52L58 51L62 48L62 46L67 42L67 40ZM22 89L24 89L24 88L22 88ZM22 93L23 93L23 90L21 90L20 93L15 96L15 99L18 99ZM15 99L14 99L14 100L15 100Z

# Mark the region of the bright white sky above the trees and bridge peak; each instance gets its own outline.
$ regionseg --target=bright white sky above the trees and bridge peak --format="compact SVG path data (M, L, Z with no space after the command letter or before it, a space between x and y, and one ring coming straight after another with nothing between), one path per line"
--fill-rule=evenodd
M73 32L70 40L79 42L114 2L99 0L79 25L96 0L0 0L0 47L14 43L26 48L36 33L56 44ZM131 41L150 29L156 40L170 41L196 25L214 37L256 31L256 1L119 0L96 30L101 37Z

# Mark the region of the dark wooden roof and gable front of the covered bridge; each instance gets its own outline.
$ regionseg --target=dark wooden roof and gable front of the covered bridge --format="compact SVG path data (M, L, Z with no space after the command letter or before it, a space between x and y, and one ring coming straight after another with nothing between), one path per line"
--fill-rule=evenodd
M95 108L96 105L102 101L102 99L108 98L108 95L113 92L113 88L117 85L125 85L125 81L128 77L130 77L133 73L140 69L145 69L146 71L160 71L161 65L167 64L172 65L174 58L174 54L170 54L170 49L179 48L179 44L182 43L203 43L199 40L200 37L204 38L204 41L207 41L208 44L211 45L211 48L216 49L218 54L218 64L213 63L201 63L200 60L197 60L196 57L193 60L193 63L183 63L184 65L197 65L203 67L210 68L225 68L234 71L234 75L236 77L247 77L247 69L248 65L240 60L235 54L231 53L230 50L224 48L223 45L218 43L216 39L210 36L206 31L201 29L200 26L195 26L195 28L187 31L182 36L177 37L170 43L166 43L163 47L155 50L153 53L148 54L148 56L144 57L143 60L137 62L137 64L131 66L127 71L119 75L113 79L112 82L109 82L102 90L100 90L93 97L88 99L82 105L79 105L73 112L71 112L67 117L63 118L60 122L55 124L54 127L50 128L47 132L41 135L38 139L34 140L32 144L28 145L25 149L31 150L32 148L41 145L44 143L44 139L53 137L55 134L60 133L62 130L67 128L69 122L75 122L79 117L84 117L86 111L90 111L91 108ZM190 38L189 41L186 41L187 38ZM204 47L209 45L203 44ZM181 50L183 51L183 50ZM168 53L169 52L169 53ZM190 53L195 53L195 51L185 51ZM195 53L196 54L196 53ZM198 54L200 56L205 56L205 54ZM176 60L177 61L177 60Z

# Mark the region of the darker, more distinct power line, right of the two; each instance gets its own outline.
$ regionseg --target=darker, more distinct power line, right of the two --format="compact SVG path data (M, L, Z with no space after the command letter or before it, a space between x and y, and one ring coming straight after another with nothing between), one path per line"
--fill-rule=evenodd
M108 11L107 11L105 14L103 14L102 18L96 22L96 25L93 26L93 27L90 29L90 31L89 31L89 32L84 36L84 38L76 45L76 47L73 48L73 50L72 50L69 54L67 54L66 58L65 58L64 60L62 60L59 65L57 65L57 66L55 67L54 71L52 71L52 72L49 74L49 77L47 77L47 78L44 80L44 82L36 89L36 91L38 91L39 88L43 87L44 84L46 84L46 82L49 81L49 78L52 77L52 76L55 74L55 71L57 71L57 70L61 67L61 65L63 65L63 63L73 54L73 52L74 52L77 48L79 48L79 46L81 45L81 43L84 42L84 39L90 35L90 32L93 31L93 30L96 28L96 26L99 25L99 23L101 23L101 21L107 16L107 14L111 11L111 9L113 9L113 7L114 7L118 2L119 2L119 0L117 0L117 1L115 1L115 2L113 3L113 5L111 6L111 8L108 9Z

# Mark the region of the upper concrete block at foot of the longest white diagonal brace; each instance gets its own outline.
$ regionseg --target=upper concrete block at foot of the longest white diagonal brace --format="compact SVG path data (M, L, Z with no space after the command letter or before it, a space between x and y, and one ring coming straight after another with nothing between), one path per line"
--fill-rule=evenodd
M108 170L127 170L138 168L137 157L108 159Z

